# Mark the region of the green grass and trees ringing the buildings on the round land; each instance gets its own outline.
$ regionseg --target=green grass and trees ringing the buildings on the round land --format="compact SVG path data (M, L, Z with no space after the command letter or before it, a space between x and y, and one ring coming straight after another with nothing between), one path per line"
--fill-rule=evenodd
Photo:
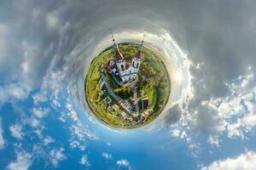
M124 42L119 44L119 50L124 55L125 59L132 59L132 57L137 54L138 45ZM154 113L148 116L148 120L143 124L140 123L131 126L131 123L120 119L117 113L106 111L101 98L101 89L98 85L100 79L99 71L102 71L102 68L107 65L108 61L113 59L113 49L107 48L90 64L89 71L84 81L85 98L90 109L102 122L113 127L134 128L152 122L164 109L171 92L171 81L163 61L150 49L143 48L143 63L140 67L140 75L138 75L138 83L140 83L140 85L137 94L138 97L148 97L150 109L154 111ZM113 80L109 76L108 81L112 88L115 88L115 93L119 94L122 98L130 99L133 96L129 88L114 87Z

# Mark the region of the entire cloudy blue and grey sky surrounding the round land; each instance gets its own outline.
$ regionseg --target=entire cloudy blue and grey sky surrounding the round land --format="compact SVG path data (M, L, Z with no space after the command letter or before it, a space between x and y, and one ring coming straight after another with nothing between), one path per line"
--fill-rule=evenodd
M0 169L256 168L253 1L1 1ZM166 110L113 129L84 102L90 61L118 42L163 55Z

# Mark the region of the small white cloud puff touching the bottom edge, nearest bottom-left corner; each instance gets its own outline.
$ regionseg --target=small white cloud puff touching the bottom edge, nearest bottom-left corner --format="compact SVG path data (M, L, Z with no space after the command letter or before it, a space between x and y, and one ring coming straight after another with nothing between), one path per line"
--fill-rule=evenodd
M16 152L16 160L10 162L9 170L26 170L32 165L32 155L25 151Z

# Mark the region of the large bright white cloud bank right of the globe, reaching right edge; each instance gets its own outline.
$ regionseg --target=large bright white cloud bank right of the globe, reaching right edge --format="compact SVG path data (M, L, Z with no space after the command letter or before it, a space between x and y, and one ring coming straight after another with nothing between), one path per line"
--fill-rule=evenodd
M204 135L207 140L201 142L207 141L208 144L219 146L224 132L227 132L229 138L236 136L244 139L250 135L256 127L256 84L253 74L248 72L227 82L225 86L228 92L223 97L201 100L196 99L195 95L194 98L182 101L177 111L172 110L172 115L175 111L181 115L176 123L168 122L166 118L172 136L184 138L191 143L195 142L196 137Z

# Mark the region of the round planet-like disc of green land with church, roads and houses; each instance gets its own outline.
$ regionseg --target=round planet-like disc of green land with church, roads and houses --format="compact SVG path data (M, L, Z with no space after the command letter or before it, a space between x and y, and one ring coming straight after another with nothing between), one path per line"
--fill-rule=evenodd
M141 127L152 122L164 109L171 92L170 77L160 57L142 44L114 45L91 62L84 81L85 98L95 116L109 126ZM135 65L134 59L139 65ZM120 71L117 66L125 61L125 69L134 65L131 71L136 73L128 82L120 78L124 65Z

